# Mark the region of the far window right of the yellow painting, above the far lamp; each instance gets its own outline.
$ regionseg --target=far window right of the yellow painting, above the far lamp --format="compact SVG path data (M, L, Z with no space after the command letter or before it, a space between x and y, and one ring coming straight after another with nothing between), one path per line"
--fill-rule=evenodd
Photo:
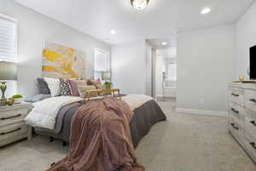
M94 77L102 79L102 72L110 70L109 53L100 48L95 48Z

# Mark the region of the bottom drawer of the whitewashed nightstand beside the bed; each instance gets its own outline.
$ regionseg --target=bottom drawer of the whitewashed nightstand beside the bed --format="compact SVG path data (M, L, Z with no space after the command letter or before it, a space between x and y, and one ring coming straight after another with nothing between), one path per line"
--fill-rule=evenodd
M25 122L10 124L0 128L0 142L15 140L16 136L27 134L28 127Z

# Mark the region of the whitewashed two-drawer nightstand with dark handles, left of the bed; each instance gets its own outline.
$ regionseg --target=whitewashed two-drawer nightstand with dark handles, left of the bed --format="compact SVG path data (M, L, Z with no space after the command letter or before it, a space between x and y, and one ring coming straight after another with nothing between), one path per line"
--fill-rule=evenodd
M24 118L32 110L32 103L0 106L0 147L27 138L32 138L32 128Z

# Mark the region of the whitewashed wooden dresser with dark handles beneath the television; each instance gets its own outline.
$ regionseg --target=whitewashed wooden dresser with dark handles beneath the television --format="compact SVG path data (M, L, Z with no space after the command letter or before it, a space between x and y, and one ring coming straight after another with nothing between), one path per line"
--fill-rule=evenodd
M256 162L256 83L230 85L229 130Z

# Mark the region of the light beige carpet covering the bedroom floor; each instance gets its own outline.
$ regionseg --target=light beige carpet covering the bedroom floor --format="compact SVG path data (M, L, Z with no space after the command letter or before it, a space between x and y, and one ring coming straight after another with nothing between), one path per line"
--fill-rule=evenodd
M148 171L256 171L231 137L225 117L178 114L161 103L168 121L156 124L137 147ZM0 149L0 171L44 171L67 154L61 141L44 137Z

